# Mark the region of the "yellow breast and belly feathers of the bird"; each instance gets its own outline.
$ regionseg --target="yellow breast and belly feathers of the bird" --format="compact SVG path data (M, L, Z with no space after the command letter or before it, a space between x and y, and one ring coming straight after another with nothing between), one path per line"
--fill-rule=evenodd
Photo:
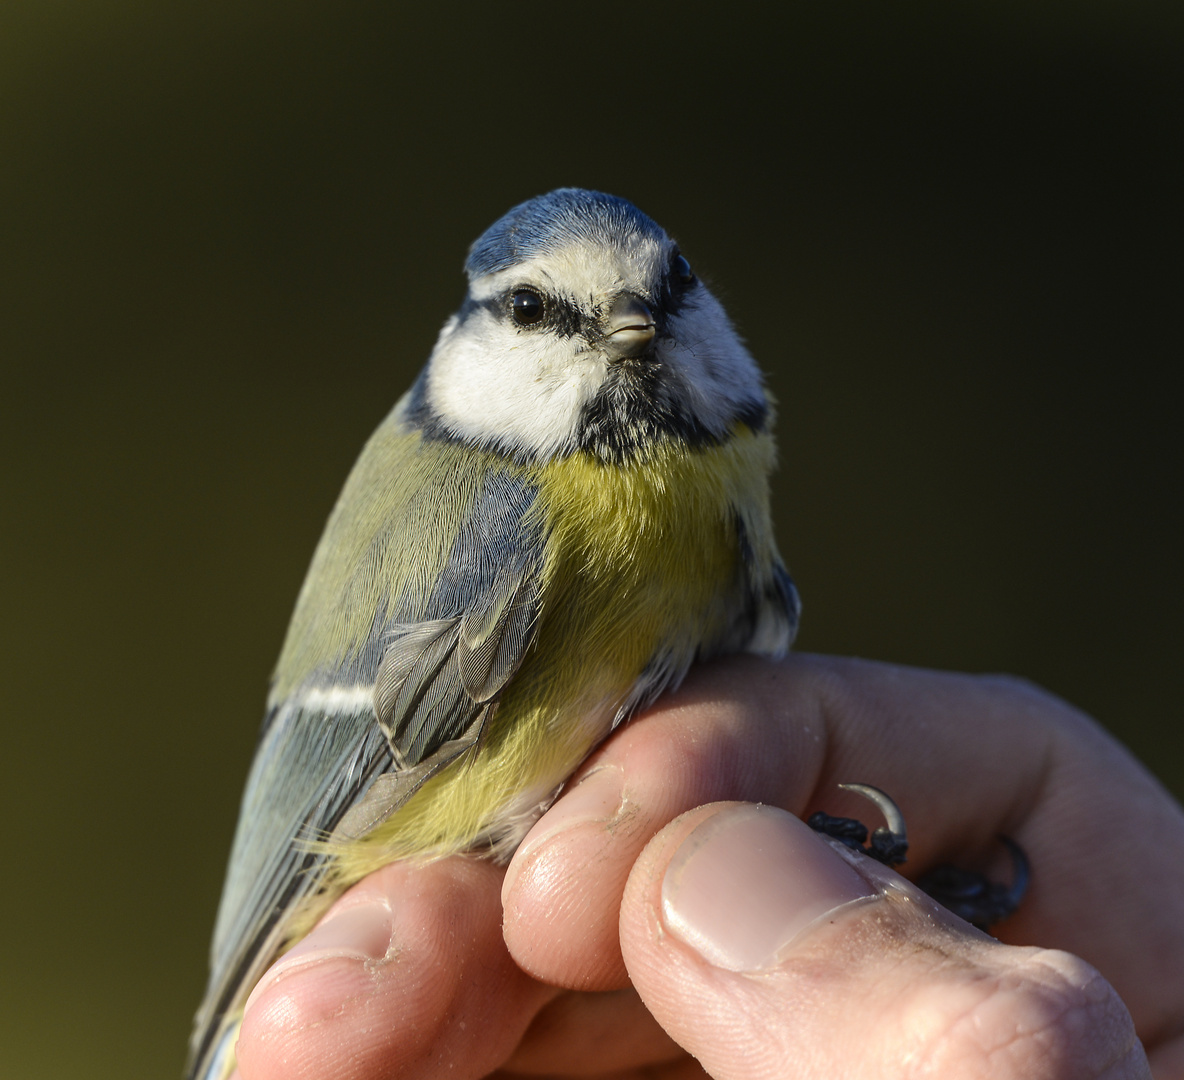
M528 469L546 544L535 643L478 751L342 851L340 883L408 855L493 846L508 857L624 711L728 647L752 584L740 527L772 577L772 459L770 436L741 427L703 450L671 443L624 465L574 455Z

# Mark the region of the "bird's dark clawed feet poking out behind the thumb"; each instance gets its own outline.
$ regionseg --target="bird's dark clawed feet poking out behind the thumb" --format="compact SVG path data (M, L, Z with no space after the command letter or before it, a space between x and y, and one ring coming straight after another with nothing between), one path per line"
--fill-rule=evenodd
M887 828L881 825L868 840L868 828L854 817L834 817L830 814L811 814L806 822L811 829L837 840L852 850L882 862L884 866L900 866L908 853L908 832L905 829L905 817L900 808L879 787L870 784L839 784L844 791L854 791L870 799L883 814ZM998 885L976 870L964 870L960 867L939 866L922 874L916 885L937 900L942 907L955 915L972 922L979 930L986 930L995 922L1002 922L1019 906L1031 872L1028 856L1014 840L1000 836L999 840L1011 853L1011 885Z

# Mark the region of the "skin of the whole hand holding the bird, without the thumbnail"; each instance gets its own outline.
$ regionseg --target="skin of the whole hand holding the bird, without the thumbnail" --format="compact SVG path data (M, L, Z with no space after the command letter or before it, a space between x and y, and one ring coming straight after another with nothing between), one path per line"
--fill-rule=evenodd
M1028 683L733 657L578 779L508 869L393 864L346 894L249 1002L242 1080L1184 1078L1184 811ZM910 875L1005 879L995 837L1023 846L1032 885L999 941L770 809L877 824L843 780L899 802ZM755 973L695 947L662 892L680 853L754 815L798 872L777 904L871 898L807 919Z

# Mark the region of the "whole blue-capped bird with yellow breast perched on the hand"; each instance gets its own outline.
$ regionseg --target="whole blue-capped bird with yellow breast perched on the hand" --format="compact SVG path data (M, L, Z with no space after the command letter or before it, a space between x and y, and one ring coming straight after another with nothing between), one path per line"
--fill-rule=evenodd
M395 859L504 862L565 779L696 660L778 656L760 372L678 245L565 188L481 236L426 367L362 450L271 682L187 1075Z

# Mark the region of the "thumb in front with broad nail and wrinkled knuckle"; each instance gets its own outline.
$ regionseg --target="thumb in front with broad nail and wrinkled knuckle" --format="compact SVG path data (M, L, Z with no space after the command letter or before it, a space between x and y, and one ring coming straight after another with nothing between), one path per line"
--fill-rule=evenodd
M650 1012L716 1080L1151 1075L1083 960L1000 945L774 808L671 822L630 874L620 938Z

